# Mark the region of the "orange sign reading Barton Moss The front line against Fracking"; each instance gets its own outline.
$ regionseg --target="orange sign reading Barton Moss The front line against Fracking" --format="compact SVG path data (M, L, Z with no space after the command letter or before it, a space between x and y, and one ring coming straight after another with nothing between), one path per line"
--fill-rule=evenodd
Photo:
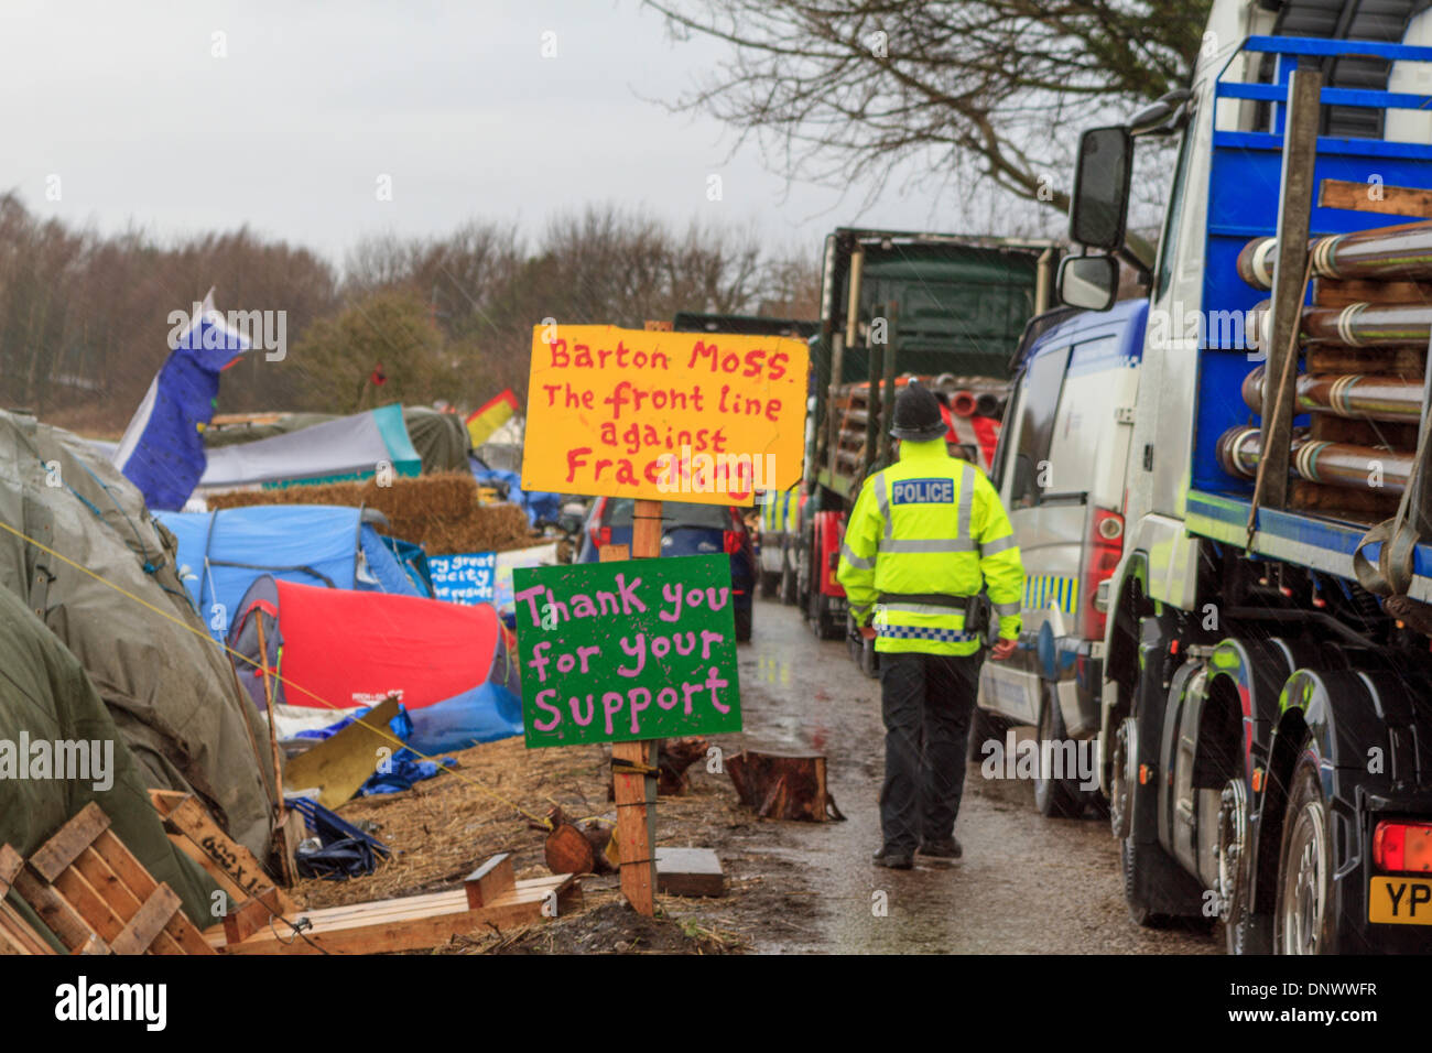
M533 327L523 489L750 504L800 480L806 345Z

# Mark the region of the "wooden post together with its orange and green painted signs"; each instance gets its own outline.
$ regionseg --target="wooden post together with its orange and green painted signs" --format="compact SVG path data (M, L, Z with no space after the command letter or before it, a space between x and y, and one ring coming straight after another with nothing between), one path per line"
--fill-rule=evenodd
M659 742L740 729L730 556L657 560L663 500L752 504L799 481L809 367L798 340L670 330L533 328L523 489L634 513L629 562L514 573L527 745L611 742L621 891L647 915ZM603 625L591 595L621 615Z

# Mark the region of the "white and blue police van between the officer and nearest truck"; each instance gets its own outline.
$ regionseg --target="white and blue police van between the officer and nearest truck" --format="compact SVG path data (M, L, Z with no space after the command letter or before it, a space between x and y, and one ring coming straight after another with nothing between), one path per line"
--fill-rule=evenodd
M1032 319L991 467L1024 562L1022 629L1008 660L981 666L969 752L984 761L1014 725L1037 728L1041 756L1060 761L1034 781L1044 815L1078 815L1097 792L1107 582L1124 549L1147 314L1137 299ZM1085 755L1093 776L1071 762Z

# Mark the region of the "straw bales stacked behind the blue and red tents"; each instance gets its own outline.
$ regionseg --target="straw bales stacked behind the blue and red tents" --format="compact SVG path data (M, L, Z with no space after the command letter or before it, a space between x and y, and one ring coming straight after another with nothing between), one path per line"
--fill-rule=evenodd
M206 500L211 509L362 504L387 516L388 527L382 533L421 544L430 556L505 552L534 543L527 513L516 504L480 503L477 480L463 471L395 479L391 486L378 486L375 479L368 479L362 483L289 486L281 490L232 490L208 494Z

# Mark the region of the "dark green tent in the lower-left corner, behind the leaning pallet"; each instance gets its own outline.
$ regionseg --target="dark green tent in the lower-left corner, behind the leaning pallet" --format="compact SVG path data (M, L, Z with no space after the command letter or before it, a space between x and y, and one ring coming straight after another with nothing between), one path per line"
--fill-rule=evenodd
M21 736L29 756L17 751ZM87 778L33 778L34 771L11 768L37 759L36 742L60 741L89 744L83 755ZM93 801L145 868L179 894L189 918L200 927L212 924L213 883L165 837L145 792L147 778L95 685L74 655L7 589L0 589L0 742L16 748L9 756L0 751L0 844L30 855ZM93 754L95 744L102 746L99 754ZM107 759L103 744L113 744Z

